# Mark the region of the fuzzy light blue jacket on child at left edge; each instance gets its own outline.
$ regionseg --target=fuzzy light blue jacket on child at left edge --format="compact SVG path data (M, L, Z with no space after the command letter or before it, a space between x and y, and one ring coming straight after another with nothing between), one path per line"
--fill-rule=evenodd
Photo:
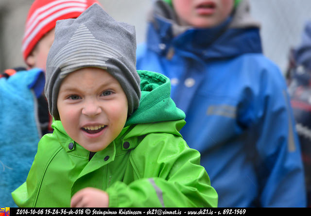
M11 192L26 181L41 138L36 93L44 87L40 69L0 79L0 206L16 207Z

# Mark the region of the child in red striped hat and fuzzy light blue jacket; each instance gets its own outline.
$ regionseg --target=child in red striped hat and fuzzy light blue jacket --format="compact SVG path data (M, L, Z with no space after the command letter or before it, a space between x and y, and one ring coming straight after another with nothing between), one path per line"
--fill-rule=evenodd
M2 206L15 206L11 192L26 180L41 136L52 132L52 117L43 89L56 21L76 18L95 2L98 3L97 0L35 0L29 9L22 41L28 69L9 69L0 76Z

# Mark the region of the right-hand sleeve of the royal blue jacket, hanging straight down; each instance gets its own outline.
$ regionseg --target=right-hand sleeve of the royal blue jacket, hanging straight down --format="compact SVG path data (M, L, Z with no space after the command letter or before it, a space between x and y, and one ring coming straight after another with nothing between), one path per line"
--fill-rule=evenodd
M304 207L304 170L286 83L276 66L268 68L261 70L260 88L252 104L260 204Z

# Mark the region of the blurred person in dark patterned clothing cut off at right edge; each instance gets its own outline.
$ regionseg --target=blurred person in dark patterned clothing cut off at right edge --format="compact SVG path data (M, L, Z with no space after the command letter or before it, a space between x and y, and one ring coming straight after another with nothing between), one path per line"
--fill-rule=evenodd
M287 78L311 207L311 21L304 26L299 46L290 52Z

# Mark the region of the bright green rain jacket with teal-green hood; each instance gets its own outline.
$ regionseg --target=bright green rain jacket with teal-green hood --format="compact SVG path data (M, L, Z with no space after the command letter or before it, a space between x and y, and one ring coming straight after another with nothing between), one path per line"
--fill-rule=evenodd
M185 114L163 75L138 71L141 99L119 136L89 160L60 121L42 137L27 180L13 193L20 207L69 207L85 187L109 195L109 207L217 207L218 195L179 130Z

